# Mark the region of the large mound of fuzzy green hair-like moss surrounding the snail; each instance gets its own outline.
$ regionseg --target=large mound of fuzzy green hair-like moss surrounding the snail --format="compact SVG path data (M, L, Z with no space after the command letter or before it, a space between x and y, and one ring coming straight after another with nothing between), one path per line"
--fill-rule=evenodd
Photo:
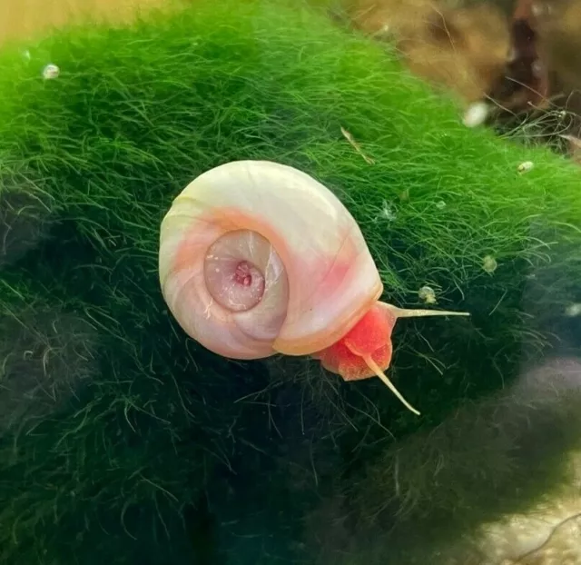
M30 58L0 56L0 219L13 242L0 255L2 375L44 375L54 402L41 410L30 385L18 418L0 419L3 562L309 562L303 518L321 497L347 497L338 511L359 522L359 501L390 492L395 470L373 471L386 452L411 434L429 444L456 407L549 348L578 351L563 317L581 302L578 170L466 130L451 101L325 15L201 2L23 48ZM58 78L43 78L48 63ZM172 320L162 216L192 178L236 159L291 164L336 191L388 302L417 306L429 285L438 306L472 313L396 328L390 371L421 418L377 380L343 383L308 360L228 362ZM491 452L478 473L503 489L524 480ZM450 480L470 484L463 464ZM532 487L559 476L547 467ZM449 512L446 484L437 496L418 484L424 510ZM478 504L495 497L486 484Z

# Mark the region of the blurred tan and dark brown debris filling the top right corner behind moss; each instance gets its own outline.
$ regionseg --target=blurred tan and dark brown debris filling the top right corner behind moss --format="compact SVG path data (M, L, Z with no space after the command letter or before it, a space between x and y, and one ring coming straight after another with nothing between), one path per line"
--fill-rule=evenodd
M467 108L488 101L488 124L510 127L548 113L539 126L547 140L581 138L581 0L346 2L351 25L393 40L413 73ZM578 147L564 145L581 158Z

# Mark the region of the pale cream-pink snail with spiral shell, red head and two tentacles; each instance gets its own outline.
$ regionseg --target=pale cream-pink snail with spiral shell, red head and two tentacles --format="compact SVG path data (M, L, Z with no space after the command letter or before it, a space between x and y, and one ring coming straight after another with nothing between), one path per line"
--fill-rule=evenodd
M223 357L310 355L345 381L379 377L398 318L469 315L379 302L383 284L359 225L309 174L234 161L195 178L160 233L162 296L192 339Z

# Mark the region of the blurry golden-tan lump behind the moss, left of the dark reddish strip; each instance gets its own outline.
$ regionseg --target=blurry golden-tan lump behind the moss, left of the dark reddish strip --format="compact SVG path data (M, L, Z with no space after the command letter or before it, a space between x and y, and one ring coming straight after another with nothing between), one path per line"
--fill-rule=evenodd
M491 5L450 8L431 0L348 0L350 23L395 40L409 69L473 102L502 73L509 48L506 16Z

